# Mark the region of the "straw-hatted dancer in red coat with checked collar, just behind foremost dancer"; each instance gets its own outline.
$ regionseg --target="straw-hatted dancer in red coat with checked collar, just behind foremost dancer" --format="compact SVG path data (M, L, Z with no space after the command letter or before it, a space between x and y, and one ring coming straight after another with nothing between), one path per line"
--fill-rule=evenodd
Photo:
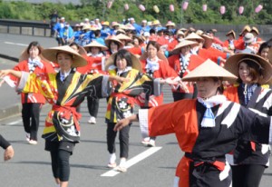
M170 66L176 71L177 74L179 74L180 78L188 74L190 71L199 66L199 64L202 64L205 61L199 57L199 55L189 53L189 50L194 45L198 45L198 43L189 40L183 40L171 52L171 54L174 55L171 55L168 58ZM180 85L177 87L172 87L172 94L175 102L181 99L196 98L196 87L191 83L186 84L189 92L185 92L184 89L180 88Z

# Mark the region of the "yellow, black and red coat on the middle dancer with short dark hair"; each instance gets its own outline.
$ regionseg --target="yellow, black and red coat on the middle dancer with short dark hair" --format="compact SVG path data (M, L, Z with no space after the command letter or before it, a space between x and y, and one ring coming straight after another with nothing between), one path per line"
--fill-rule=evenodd
M130 81L123 84L114 83L114 91L108 100L106 113L106 123L117 123L118 120L131 116L134 103L144 104L146 100L141 101L138 97L145 94L146 97L154 94L156 86L153 79L141 74L138 70L128 68L127 71L119 71L119 76L128 78ZM112 70L110 74L117 74ZM158 91L157 91L158 92Z

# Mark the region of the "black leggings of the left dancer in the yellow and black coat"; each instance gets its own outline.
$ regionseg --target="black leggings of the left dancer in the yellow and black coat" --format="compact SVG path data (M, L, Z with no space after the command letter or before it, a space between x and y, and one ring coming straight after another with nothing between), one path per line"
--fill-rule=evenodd
M45 150L50 152L51 166L54 178L68 182L70 177L70 156L74 143L45 141Z

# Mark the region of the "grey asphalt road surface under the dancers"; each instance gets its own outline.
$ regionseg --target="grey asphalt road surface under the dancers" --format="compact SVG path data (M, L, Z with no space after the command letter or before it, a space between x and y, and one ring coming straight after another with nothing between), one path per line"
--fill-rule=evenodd
M53 38L32 37L24 35L0 34L0 52L6 55L18 56L27 44L37 40L44 48L55 46ZM0 54L1 54L0 53ZM16 63L0 59L0 69L11 68ZM3 85L0 87L0 111L5 111L0 118L0 133L9 140L15 148L15 157L9 162L0 158L0 186L3 187L49 187L55 186L50 165L50 155L44 152L44 140L39 138L37 145L25 141L23 123L20 117L20 96L15 91ZM172 102L170 88L164 87L165 103ZM157 138L155 148L141 145L141 134L137 123L133 123L130 133L129 162L131 167L126 173L116 173L106 165L108 153L106 149L106 111L105 99L101 99L97 124L87 121L86 102L81 106L82 139L77 144L71 157L72 187L158 187L172 186L175 168L183 153L180 152L174 135ZM16 109L17 108L17 109ZM9 109L9 110L8 110ZM41 137L44 119L49 106L41 113L41 123L38 137ZM11 111L10 114L6 111ZM119 140L116 139L117 157L119 155ZM0 155L2 150L0 150ZM2 154L3 155L3 154ZM1 162L2 160L2 162ZM272 169L268 168L263 175L260 187L270 187Z

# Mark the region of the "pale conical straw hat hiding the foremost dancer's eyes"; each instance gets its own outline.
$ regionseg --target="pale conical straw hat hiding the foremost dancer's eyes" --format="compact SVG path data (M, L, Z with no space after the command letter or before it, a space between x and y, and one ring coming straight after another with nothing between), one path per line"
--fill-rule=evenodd
M238 79L236 75L229 73L223 67L208 59L184 76L182 81L196 82L203 77L219 77L223 81L235 81Z

